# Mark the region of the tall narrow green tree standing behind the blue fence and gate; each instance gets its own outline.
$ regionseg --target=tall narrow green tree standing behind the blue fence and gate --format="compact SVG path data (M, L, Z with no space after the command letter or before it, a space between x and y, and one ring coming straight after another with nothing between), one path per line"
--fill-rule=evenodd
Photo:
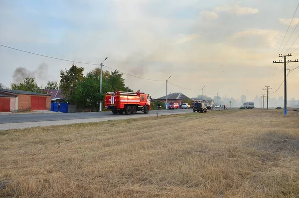
M74 103L78 83L84 80L83 71L83 67L78 68L75 64L69 70L60 70L60 88L71 104Z

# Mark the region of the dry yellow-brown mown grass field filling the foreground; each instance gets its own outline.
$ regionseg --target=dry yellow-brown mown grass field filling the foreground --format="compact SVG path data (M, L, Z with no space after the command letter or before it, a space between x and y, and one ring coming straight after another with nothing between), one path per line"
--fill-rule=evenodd
M299 114L222 110L2 131L0 197L299 198Z

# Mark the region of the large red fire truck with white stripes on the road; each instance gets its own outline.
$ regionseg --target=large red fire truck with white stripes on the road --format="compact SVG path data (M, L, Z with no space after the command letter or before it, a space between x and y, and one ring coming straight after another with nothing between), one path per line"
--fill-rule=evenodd
M104 99L105 109L111 109L113 114L136 114L137 111L149 113L149 94L138 92L116 91L108 92Z

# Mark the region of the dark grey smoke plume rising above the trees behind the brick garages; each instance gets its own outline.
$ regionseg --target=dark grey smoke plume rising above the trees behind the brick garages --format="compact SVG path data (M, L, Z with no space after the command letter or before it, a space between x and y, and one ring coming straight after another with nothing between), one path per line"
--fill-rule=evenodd
M38 65L38 68L34 71L29 71L25 67L18 67L12 74L13 82L20 83L26 77L33 77L41 80L47 78L48 65L44 62Z

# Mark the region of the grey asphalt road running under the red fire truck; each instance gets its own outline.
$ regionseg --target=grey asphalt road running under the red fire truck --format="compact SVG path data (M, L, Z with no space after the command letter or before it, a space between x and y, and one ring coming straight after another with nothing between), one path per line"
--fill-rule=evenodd
M159 115L162 114L177 114L177 113L186 113L193 112L193 109L175 109L175 110L152 110L149 111L149 114L156 115L158 112ZM138 111L135 115L146 116L142 111ZM134 115L134 116L135 116ZM0 115L0 124L4 123L25 123L25 122L43 122L43 121L61 121L61 120L78 120L78 119L90 119L90 118L130 118L132 115L126 115L125 113L112 114L109 112L91 112L91 113L55 113L55 114L6 114Z

